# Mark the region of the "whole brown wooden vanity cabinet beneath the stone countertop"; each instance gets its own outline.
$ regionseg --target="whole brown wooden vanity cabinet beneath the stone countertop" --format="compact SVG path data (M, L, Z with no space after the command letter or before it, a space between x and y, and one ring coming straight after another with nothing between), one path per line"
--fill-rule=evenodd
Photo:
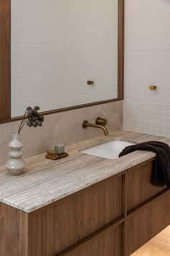
M0 256L129 256L170 224L154 158L32 213L0 203Z

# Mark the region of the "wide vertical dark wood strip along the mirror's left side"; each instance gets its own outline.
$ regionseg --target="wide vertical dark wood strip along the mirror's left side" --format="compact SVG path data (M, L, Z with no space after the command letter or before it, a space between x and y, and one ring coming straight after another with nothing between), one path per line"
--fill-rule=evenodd
M0 121L11 115L10 4L11 0L0 0Z

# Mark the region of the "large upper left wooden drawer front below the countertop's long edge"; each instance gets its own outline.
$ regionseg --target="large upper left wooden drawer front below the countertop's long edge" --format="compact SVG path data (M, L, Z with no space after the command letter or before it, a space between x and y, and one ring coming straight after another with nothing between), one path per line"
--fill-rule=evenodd
M122 176L116 176L32 213L31 256L56 255L121 216Z

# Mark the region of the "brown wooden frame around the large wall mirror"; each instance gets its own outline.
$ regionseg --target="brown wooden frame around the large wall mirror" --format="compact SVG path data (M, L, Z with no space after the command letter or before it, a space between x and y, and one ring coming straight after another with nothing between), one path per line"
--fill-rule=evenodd
M45 111L44 115L123 100L124 5L124 0L118 0L117 98ZM11 118L11 0L0 0L0 124L19 119L22 116Z

